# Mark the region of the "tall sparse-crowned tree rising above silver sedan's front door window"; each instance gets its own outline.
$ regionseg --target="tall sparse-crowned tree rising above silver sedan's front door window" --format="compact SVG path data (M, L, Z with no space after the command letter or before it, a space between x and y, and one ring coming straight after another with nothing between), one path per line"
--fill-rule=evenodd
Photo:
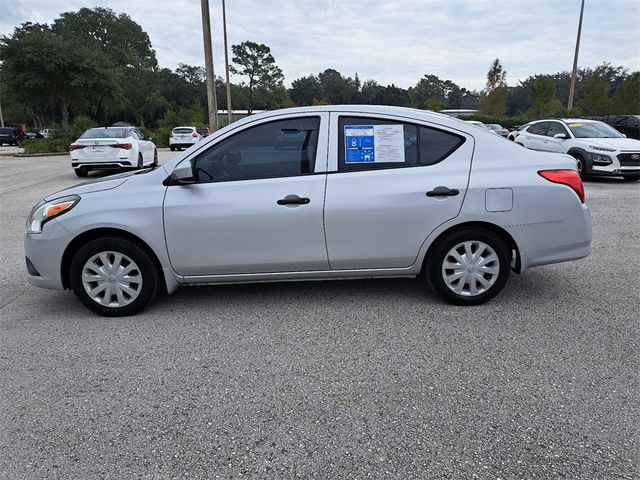
M232 73L247 78L247 110L251 113L256 94L264 99L282 85L284 75L271 55L271 49L262 43L242 42L231 47Z

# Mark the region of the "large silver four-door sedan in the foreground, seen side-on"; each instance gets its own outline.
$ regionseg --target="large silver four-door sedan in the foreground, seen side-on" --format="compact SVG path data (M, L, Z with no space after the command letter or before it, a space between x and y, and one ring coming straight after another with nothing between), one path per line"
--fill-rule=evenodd
M28 220L27 271L103 315L180 285L421 274L478 304L511 269L589 255L575 165L425 111L273 111L162 167L47 197Z

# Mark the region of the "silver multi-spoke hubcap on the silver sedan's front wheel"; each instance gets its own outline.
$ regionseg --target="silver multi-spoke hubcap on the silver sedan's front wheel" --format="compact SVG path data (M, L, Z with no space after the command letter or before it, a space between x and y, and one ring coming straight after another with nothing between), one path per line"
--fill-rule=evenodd
M94 302L105 307L124 307L140 295L142 273L126 255L100 252L84 264L82 285Z

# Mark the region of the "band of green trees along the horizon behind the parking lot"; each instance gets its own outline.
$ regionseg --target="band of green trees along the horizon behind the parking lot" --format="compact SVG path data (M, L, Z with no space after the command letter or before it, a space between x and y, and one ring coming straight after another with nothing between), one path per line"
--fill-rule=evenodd
M470 90L433 74L414 86L381 85L328 68L284 85L282 69L267 45L232 46L231 82L236 110L272 110L307 105L396 105L439 111L472 109L492 117L640 113L640 72L603 63L578 69L575 108L567 111L571 74L531 75L507 85L500 60L491 63L486 86ZM203 67L158 66L148 34L127 14L108 8L61 13L51 24L26 22L0 37L0 98L6 124L37 128L70 121L108 125L126 121L147 129L178 124L205 126L207 94ZM226 88L215 79L218 109Z

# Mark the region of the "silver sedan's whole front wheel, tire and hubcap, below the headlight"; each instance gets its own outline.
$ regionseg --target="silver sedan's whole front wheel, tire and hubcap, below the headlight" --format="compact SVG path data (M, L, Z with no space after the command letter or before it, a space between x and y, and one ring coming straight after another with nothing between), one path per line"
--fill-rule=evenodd
M159 290L151 256L139 245L118 237L92 240L71 261L69 279L78 299L108 317L134 315Z

